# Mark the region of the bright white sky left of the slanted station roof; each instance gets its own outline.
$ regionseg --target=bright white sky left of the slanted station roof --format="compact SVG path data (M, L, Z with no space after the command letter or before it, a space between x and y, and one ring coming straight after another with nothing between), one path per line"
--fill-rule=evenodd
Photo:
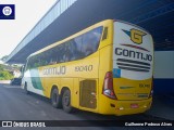
M0 0L15 4L15 20L0 20L0 58L9 55L57 0Z

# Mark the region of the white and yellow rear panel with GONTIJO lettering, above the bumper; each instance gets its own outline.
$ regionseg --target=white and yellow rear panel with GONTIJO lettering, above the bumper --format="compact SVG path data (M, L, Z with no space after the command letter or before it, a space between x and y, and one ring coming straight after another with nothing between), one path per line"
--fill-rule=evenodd
M117 100L145 100L151 91L153 42L146 30L114 22L113 86Z

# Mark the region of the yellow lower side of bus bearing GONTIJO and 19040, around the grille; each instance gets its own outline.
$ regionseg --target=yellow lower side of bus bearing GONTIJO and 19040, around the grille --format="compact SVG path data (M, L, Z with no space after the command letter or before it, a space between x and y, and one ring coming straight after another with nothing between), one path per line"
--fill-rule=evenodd
M98 96L98 66L99 52L85 60L39 67L39 77L42 82L45 96L50 98L53 86L58 87L59 94L61 94L63 87L67 87L73 95L71 99L72 105L88 110L89 108L79 105L80 82L85 80L96 81L96 93L94 94L95 98Z

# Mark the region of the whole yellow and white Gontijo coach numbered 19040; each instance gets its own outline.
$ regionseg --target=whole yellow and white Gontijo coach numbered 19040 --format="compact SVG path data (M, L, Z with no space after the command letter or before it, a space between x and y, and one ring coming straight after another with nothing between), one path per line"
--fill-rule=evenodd
M103 115L144 113L152 103L153 41L129 23L105 20L27 57L22 88L53 107Z

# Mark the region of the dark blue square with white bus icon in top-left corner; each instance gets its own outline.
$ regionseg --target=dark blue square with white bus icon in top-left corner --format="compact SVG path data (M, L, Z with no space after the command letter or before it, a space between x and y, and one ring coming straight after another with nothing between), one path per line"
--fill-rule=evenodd
M0 20L14 20L15 5L14 4L0 4Z

